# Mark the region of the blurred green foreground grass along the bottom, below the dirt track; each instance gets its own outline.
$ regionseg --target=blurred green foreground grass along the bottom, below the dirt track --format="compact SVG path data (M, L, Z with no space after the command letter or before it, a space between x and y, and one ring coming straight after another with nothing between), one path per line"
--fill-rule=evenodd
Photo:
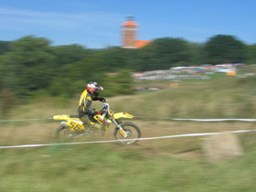
M90 144L3 150L0 191L255 190L255 145L236 160L214 165L168 155L149 158L134 147L112 148Z

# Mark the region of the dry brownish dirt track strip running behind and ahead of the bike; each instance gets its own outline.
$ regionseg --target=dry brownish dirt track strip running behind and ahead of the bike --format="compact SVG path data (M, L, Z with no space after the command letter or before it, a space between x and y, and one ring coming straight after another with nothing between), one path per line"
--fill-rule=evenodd
M139 125L142 137L155 137L182 133L211 133L231 130L255 129L255 123L185 123L168 121L133 121ZM45 144L55 143L54 134L59 123L30 123L28 125L8 125L0 128L0 144ZM97 140L113 139L113 125L104 137ZM181 157L197 158L200 145L206 137L185 137L140 141L134 149L142 149L145 155L172 154ZM86 141L86 140L84 140ZM109 144L115 150L123 146ZM192 153L191 153L192 152Z

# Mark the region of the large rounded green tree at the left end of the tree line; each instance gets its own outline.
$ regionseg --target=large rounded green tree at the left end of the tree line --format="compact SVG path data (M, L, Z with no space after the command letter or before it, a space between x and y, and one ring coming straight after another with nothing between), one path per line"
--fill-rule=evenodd
M5 82L18 95L30 95L30 91L48 87L54 61L49 43L45 38L23 37L14 41L12 51L2 57L4 70L8 74Z

